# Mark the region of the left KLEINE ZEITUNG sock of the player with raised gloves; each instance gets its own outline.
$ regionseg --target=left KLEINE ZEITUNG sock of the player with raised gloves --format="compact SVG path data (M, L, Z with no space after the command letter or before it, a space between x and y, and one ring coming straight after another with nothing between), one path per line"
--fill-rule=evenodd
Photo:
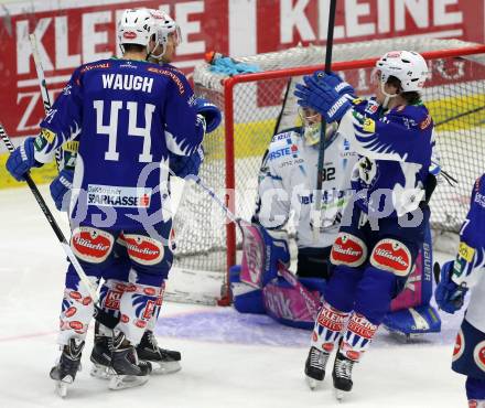
M324 302L316 316L312 333L312 346L332 353L344 331L348 313L341 312Z

